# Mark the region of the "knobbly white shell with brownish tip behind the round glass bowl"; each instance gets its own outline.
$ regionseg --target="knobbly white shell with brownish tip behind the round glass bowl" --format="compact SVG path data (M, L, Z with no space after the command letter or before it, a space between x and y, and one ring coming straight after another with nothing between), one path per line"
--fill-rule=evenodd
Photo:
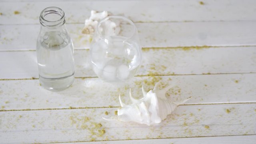
M84 28L82 30L83 34L94 34L96 27L98 25L98 22L102 19L105 18L106 16L110 16L110 13L108 11L103 11L103 12L96 12L95 10L91 11L91 16L89 19L85 20L84 23ZM120 26L119 23L113 22L111 20L106 20L105 22L106 26L108 27L108 33L110 34L118 34L120 32ZM99 29L99 32L102 32L102 28ZM108 35L110 35L108 34Z

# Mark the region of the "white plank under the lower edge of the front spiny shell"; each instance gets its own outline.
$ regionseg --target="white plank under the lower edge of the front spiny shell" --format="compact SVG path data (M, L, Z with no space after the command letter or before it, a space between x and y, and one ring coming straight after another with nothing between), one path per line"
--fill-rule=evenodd
M79 142L256 134L256 104L179 106L156 126L105 121L116 108L0 112L1 143ZM230 110L230 112L227 112Z

